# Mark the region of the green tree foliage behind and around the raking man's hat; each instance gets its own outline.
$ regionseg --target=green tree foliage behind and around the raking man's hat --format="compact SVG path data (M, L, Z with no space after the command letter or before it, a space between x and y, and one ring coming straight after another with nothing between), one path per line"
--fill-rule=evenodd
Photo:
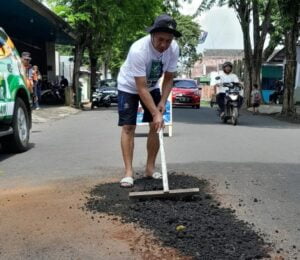
M200 28L191 16L180 15L177 0L48 0L48 5L74 28L78 43L90 56L105 63L114 75L131 44L146 35L146 28L163 12L173 15L183 37L179 39L182 64L189 68L198 60ZM66 48L60 47L63 52Z

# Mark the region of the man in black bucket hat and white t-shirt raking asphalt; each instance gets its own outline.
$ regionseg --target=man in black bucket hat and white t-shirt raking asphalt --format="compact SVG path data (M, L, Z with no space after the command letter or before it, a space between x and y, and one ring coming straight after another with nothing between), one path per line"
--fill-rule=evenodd
M155 172L159 150L157 132L163 127L165 104L172 89L177 69L179 47L174 37L180 37L175 20L168 15L158 16L148 28L149 35L134 42L118 75L119 126L122 126L121 147L125 177L121 187L133 186L133 149L139 101L144 108L143 122L149 122L147 164L145 176L161 178ZM159 80L163 77L162 93Z

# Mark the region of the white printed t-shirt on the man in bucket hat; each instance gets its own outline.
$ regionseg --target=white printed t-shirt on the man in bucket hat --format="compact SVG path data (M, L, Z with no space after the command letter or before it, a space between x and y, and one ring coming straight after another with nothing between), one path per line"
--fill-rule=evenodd
M138 94L134 77L147 78L149 91L159 88L159 79L166 71L176 72L179 47L175 40L163 53L152 45L151 36L147 35L132 44L126 61L118 75L118 89L131 94Z

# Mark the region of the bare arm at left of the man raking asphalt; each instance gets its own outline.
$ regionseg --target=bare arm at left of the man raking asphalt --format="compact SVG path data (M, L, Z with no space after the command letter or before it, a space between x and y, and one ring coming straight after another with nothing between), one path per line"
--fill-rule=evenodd
M163 127L163 117L162 113L156 107L151 94L149 93L147 87L147 79L146 77L135 77L134 79L138 94L145 106L147 107L147 109L150 111L153 117L155 129L158 131L160 128Z

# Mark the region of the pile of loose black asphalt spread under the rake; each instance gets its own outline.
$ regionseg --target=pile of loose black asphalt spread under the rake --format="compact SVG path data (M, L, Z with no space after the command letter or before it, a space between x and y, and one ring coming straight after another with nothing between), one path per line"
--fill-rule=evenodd
M265 259L270 244L253 225L238 219L235 211L221 207L209 193L209 183L184 174L169 175L170 189L200 188L185 198L131 200L130 191L161 190L161 180L141 178L133 189L119 183L95 186L85 207L94 214L106 213L153 231L162 245L176 248L194 259Z

